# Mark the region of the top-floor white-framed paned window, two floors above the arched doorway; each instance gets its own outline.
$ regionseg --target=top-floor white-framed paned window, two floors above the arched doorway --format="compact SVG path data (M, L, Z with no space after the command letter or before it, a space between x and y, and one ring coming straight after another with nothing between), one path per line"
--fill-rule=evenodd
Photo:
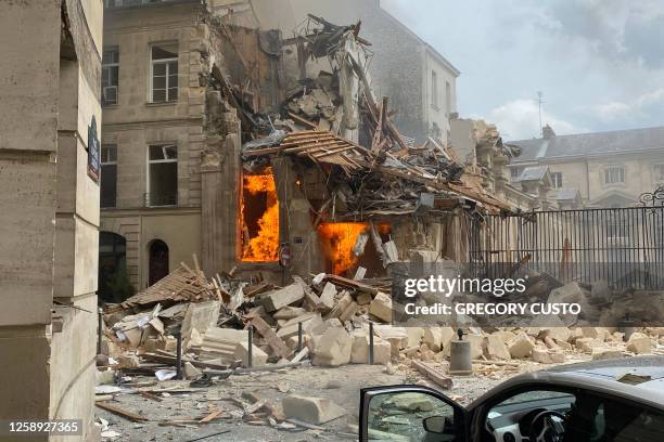
M155 44L151 48L151 102L178 100L178 46Z

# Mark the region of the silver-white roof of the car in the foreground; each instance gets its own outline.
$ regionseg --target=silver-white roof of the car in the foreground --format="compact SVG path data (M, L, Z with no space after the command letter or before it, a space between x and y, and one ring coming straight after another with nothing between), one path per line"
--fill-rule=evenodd
M566 364L514 376L473 401L473 408L519 385L582 388L664 410L664 356L635 356Z

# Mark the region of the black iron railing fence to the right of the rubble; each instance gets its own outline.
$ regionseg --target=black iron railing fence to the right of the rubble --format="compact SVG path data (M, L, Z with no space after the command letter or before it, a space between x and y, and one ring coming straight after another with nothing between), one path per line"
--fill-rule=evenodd
M520 263L561 282L664 288L664 206L476 217L469 229L475 274L499 277Z

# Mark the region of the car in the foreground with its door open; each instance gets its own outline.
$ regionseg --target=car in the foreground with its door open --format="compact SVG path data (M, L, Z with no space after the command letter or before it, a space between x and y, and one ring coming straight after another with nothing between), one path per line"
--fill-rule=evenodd
M664 356L558 365L462 406L421 386L360 391L360 441L664 442Z

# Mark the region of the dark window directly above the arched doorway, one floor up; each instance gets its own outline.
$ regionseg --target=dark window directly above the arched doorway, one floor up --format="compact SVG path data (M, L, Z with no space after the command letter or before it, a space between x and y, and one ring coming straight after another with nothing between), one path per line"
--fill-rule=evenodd
M148 148L148 193L145 206L178 204L178 148L173 144Z

